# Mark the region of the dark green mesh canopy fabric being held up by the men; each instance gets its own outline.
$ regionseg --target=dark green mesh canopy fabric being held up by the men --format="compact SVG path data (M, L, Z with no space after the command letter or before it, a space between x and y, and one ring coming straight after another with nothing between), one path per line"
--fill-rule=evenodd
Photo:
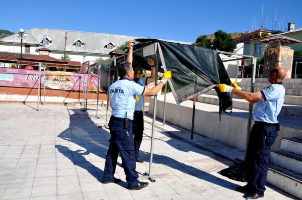
M172 78L169 80L173 95L177 103L196 97L211 88L215 88L220 100L220 109L224 112L232 106L232 99L229 93L221 93L216 86L219 83L230 85L231 80L224 65L217 53L212 49L199 46L167 42L156 39L136 39L135 45L138 50L133 56L133 68L147 68L146 58L150 55L144 53L144 49L152 46L155 42L159 44L159 71L172 71ZM154 48L155 49L155 48ZM221 112L220 110L220 112Z

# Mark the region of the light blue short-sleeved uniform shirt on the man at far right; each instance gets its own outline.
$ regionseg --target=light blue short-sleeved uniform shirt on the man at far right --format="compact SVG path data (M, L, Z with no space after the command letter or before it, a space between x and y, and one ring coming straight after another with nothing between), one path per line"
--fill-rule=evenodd
M254 121L275 124L281 111L285 89L282 82L271 84L265 90L261 90L265 100L260 100L256 104L254 111Z

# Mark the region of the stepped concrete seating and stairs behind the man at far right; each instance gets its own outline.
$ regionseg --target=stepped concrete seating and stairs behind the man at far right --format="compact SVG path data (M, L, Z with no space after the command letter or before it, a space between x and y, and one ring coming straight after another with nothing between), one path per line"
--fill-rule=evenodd
M250 81L250 78L243 78L237 83L243 90L250 91ZM267 86L267 78L256 79L255 91ZM302 199L302 79L284 79L283 86L286 95L279 114L281 127L276 144L272 146L267 181ZM214 89L198 96L197 102L219 105ZM233 95L233 109L247 115L249 103ZM246 120L245 115L243 118Z

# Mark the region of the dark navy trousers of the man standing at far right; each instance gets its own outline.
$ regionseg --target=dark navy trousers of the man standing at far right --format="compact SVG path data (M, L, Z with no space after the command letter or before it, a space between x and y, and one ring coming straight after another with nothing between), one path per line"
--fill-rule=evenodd
M245 161L245 175L249 190L263 194L268 171L270 146L278 132L275 126L254 124L250 132Z

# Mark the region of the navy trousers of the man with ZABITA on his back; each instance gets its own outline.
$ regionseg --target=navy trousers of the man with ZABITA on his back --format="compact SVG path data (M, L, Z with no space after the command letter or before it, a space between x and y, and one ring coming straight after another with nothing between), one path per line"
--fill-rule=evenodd
M134 154L132 121L129 123L129 128L124 129L123 122L111 117L109 121L109 130L111 138L109 140L110 144L106 156L103 181L113 179L118 153L120 153L128 187L134 187L138 183L138 173L135 171L136 161Z

